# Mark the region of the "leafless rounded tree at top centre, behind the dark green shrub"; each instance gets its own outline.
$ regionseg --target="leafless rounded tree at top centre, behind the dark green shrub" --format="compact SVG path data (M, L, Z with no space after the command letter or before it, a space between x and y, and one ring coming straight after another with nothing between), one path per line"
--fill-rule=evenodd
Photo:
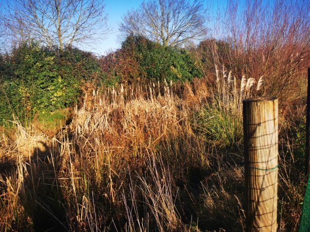
M150 0L122 17L120 31L125 36L145 36L164 46L180 46L205 35L206 18L200 0Z

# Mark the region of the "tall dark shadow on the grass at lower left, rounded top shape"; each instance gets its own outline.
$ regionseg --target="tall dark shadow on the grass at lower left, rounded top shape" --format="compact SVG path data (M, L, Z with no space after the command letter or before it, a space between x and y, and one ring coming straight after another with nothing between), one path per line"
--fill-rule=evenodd
M35 231L69 231L57 180L61 158L53 154L52 147L43 142L40 144L28 164L23 166L20 203L31 218Z

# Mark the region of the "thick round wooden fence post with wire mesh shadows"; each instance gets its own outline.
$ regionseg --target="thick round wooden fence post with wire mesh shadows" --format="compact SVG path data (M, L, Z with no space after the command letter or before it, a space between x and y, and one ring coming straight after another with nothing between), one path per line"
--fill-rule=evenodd
M246 231L277 230L278 99L243 101Z

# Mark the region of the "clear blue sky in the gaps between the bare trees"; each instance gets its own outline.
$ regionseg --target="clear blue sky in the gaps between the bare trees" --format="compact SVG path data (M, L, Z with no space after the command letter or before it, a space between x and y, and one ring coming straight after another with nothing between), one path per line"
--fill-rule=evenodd
M110 25L112 32L106 35L106 39L96 43L92 48L88 50L92 51L97 55L105 55L110 50L115 50L121 45L117 42L117 37L120 35L118 33L118 23L122 21L122 16L131 9L139 7L143 0L134 1L117 1L117 0L106 0L106 11L108 13L108 24ZM205 7L210 6L211 12L215 13L219 8L226 6L226 0L210 1L204 0ZM214 15L213 15L214 16ZM84 48L86 49L86 48Z

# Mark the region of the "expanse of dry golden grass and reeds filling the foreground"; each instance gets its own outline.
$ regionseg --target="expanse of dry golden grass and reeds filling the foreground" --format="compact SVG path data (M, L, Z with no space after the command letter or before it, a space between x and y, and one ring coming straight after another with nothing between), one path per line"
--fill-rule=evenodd
M246 81L217 73L213 87L194 80L93 91L54 138L16 121L15 135L0 137L0 227L243 230L241 103L258 92L250 79L241 91ZM289 124L281 132L283 231L299 218L304 183L296 184L293 134L284 139L295 133Z

